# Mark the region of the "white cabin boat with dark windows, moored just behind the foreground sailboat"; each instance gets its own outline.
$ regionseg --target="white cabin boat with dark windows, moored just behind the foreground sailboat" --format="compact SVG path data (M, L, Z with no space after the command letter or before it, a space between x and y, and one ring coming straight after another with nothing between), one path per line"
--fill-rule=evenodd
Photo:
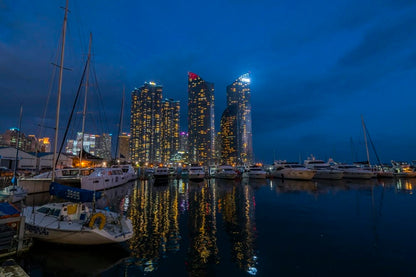
M120 168L99 167L90 175L81 178L81 188L100 191L121 186L129 181Z

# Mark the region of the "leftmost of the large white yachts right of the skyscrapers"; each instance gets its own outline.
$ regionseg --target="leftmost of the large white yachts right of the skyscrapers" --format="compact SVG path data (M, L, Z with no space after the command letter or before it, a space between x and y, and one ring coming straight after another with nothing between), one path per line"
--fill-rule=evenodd
M311 180L316 171L306 168L298 163L286 161L275 161L271 170L274 178L292 179L292 180Z

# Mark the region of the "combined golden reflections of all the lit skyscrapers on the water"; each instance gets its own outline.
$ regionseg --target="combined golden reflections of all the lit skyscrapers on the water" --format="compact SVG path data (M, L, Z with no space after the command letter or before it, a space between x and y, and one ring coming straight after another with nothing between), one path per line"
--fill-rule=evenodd
M169 258L182 244L187 247L182 250L186 251L185 265L191 276L215 275L221 257L228 256L220 253L218 241L228 240L231 249L221 251L230 251L232 262L240 270L256 274L256 202L252 186L215 180L174 180L153 186L144 181L131 197L135 236L130 248L134 263L142 271L157 270L160 259ZM186 230L179 229L180 222ZM222 225L217 226L218 222Z

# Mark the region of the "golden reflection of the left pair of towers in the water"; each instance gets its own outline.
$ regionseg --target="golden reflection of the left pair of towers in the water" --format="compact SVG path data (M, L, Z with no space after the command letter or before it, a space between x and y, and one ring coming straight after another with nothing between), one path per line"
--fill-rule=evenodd
M142 182L133 193L130 215L135 228L130 242L132 256L144 272L154 271L160 257L179 250L177 187Z

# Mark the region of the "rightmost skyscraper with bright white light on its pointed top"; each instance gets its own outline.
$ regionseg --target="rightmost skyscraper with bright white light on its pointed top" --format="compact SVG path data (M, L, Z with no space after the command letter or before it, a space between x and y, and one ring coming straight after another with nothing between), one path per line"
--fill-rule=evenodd
M253 162L251 129L250 75L241 75L227 86L227 107L236 105L237 163Z

